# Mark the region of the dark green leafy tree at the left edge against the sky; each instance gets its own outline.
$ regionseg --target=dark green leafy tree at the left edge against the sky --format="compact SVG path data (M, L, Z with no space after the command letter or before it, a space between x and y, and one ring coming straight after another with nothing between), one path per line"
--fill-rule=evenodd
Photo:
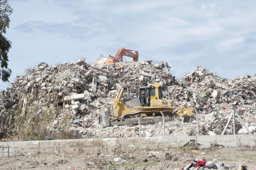
M8 56L7 53L11 48L11 41L5 38L6 28L9 28L12 8L7 0L0 0L0 78L3 82L9 82L12 70L8 69Z

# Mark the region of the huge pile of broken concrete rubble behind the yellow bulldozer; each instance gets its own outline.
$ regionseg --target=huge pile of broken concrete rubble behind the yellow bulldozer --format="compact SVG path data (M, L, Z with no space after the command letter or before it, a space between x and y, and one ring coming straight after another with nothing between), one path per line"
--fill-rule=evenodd
M122 87L129 86L131 96L135 96L138 87L160 83L163 97L174 106L196 107L199 110L202 134L221 133L232 112L232 104L247 126L251 126L251 132L255 133L256 76L223 79L204 68L196 68L178 81L172 77L169 68L167 62L152 61L94 67L84 59L52 66L40 63L28 70L27 75L17 77L11 87L1 92L1 115L6 114L6 110L21 107L25 112L27 108L37 106L39 114L42 110L54 108L57 111L51 131L58 130L61 120L68 116L71 119L70 131L81 138L136 137L139 133L137 126L101 128L98 123L100 108L110 109L112 98ZM127 97L127 92L124 97ZM176 118L166 123L166 134L195 135L196 121L188 124L182 120ZM229 129L232 129L231 125ZM247 133L242 129L240 133ZM143 125L142 134L162 136L162 123Z

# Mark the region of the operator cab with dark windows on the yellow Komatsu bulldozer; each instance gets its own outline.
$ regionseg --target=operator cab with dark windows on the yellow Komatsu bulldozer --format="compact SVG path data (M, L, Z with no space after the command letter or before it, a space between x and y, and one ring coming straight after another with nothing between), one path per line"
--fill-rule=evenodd
M150 107L151 100L162 99L162 89L159 86L154 87L152 84L148 87L140 87L137 90L137 97L140 99L142 106Z

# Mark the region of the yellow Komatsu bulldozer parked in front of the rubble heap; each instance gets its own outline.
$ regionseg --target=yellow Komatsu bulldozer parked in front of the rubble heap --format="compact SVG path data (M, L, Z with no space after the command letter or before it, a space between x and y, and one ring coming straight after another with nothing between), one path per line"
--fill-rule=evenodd
M102 127L134 125L138 124L138 119L155 124L163 121L162 114L165 121L171 121L173 117L184 117L184 122L194 120L193 107L172 107L171 103L162 97L160 83L138 88L137 96L132 98L129 87L127 87L127 98L121 98L123 92L124 88L112 99L111 113L107 108L101 108L99 123Z

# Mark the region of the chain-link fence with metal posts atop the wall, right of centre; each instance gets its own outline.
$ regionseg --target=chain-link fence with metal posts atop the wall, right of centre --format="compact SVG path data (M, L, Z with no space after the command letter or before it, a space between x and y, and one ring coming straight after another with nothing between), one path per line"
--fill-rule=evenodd
M140 137L253 134L254 131L234 106L229 113L223 108L209 113L194 108L194 116L175 118L161 114L150 122L137 117Z

